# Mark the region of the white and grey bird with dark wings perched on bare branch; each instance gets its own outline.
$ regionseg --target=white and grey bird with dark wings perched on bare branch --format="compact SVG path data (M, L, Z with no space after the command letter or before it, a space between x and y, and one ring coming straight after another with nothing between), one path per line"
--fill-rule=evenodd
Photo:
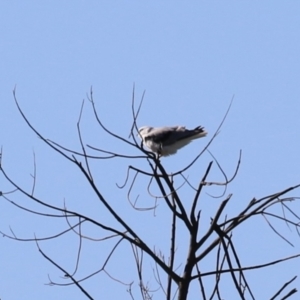
M175 154L178 149L186 146L192 140L204 137L207 132L203 127L185 129L183 126L173 127L149 127L139 129L139 136L143 143L158 156Z

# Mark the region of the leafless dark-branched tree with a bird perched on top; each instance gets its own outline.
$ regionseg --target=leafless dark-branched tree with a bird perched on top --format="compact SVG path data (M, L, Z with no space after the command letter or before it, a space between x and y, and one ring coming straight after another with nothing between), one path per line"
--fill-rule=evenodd
M235 179L239 166L241 163L241 152L238 158L237 166L234 174L229 178L225 171L222 169L219 161L213 156L209 150L209 146L216 138L220 127L222 126L227 113L221 122L219 128L212 135L212 138L204 147L204 149L191 160L181 170L170 174L163 166L163 161L159 159L152 152L147 151L144 148L143 143L137 140L137 118L142 106L144 94L141 98L140 104L136 109L135 106L135 95L133 90L132 95L132 119L130 136L124 138L110 131L101 121L98 116L95 102L93 99L92 90L88 96L89 103L92 106L94 117L98 122L99 127L111 137L118 139L121 143L124 143L135 151L139 151L139 155L130 155L126 153L117 153L109 149L100 149L94 145L87 145L84 142L84 137L81 131L81 115L84 105L80 111L79 119L77 122L78 138L81 146L81 151L75 151L67 148L64 145L58 144L53 140L47 139L43 136L28 120L16 98L16 93L13 93L16 106L27 123L30 129L51 149L56 151L65 160L77 167L85 180L88 182L90 189L96 195L99 200L99 205L105 208L107 214L114 219L114 224L111 225L103 221L101 218L91 218L80 211L72 211L67 208L66 205L55 206L47 202L46 200L40 199L35 194L36 187L36 165L34 160L34 173L33 185L30 190L26 190L21 187L13 178L9 176L3 167L2 161L5 159L1 155L1 172L6 180L13 186L12 191L3 191L1 196L21 210L29 212L31 214L40 215L46 219L63 219L65 220L65 230L58 232L52 236L34 237L34 238L21 238L14 234L13 230L11 233L1 233L3 236L17 240L17 241L32 241L35 242L40 254L56 268L58 268L64 275L63 282L55 282L49 277L49 284L51 285L76 285L79 290L88 298L94 299L94 297L83 287L83 283L100 273L105 273L112 280L127 285L127 291L131 299L154 299L156 293L159 291L165 295L165 298L184 300L188 299L188 293L192 285L199 287L199 298L198 299L224 299L224 285L223 281L226 282L226 289L230 287L235 290L235 299L257 299L254 288L247 280L247 272L260 272L260 269L268 268L271 265L284 263L287 260L296 259L300 254L279 258L278 260L266 261L265 263L253 264L246 266L240 259L239 251L236 247L236 241L233 239L233 233L245 222L254 222L254 220L260 216L266 221L275 234L281 239L290 243L283 235L279 233L278 226L280 224L284 226L294 227L296 232L299 234L299 216L291 207L291 202L298 200L297 197L289 196L289 193L294 189L299 188L300 184L291 186L283 191L275 192L271 195L261 197L259 199L251 199L243 209L241 209L235 215L227 214L226 208L232 194L227 193L227 187ZM92 155L91 153L97 153ZM199 174L197 186L193 186L191 181L188 179L187 172L196 166L197 162L204 152L210 153L212 160L208 162L205 170L202 174ZM128 205L131 207L133 212L141 213L141 211L147 211L154 215L157 213L157 204L164 205L168 211L168 216L165 216L169 220L170 234L168 237L169 243L168 251L157 249L155 244L149 244L147 242L147 236L139 234L138 228L134 228L130 225L130 222L126 221L126 217L119 213L117 209L111 204L110 199L107 199L101 189L97 186L94 180L94 174L92 172L91 164L97 160L113 160L113 159L124 159L130 162L127 170L126 180L123 185L118 186L119 189L125 191L124 200L128 200ZM147 162L147 168L137 167L134 163L136 161ZM221 174L223 174L224 181L211 181L209 175L211 170L215 166ZM142 188L137 184L137 178L143 177L147 180L148 186ZM181 184L179 184L181 182ZM183 183L182 183L183 182ZM193 191L193 196L189 204L187 201L183 201L185 195L182 193L182 187L187 186ZM200 205L200 197L214 186L224 188L220 198L220 205L211 217L210 224L204 224L201 219L201 211L204 210ZM152 199L152 205L149 207L139 206L137 199L132 199L133 189L138 188L143 195L148 195ZM155 192L153 192L155 190ZM158 192L157 192L158 191ZM47 209L47 212L41 212L34 210L18 202L18 194L21 193L27 197L30 201L37 204L38 207ZM282 209L282 214L274 213L273 208L279 206ZM159 213L159 212L158 212ZM272 223L276 220L276 225ZM89 224L90 226L97 228L103 236L101 238L94 238L92 234L83 232L83 226ZM179 240L179 228L183 228L187 239L186 244L181 244L180 247L186 251L186 257L181 259L178 257L178 240ZM203 229L206 228L206 229ZM53 258L49 257L43 250L42 243L45 240L56 240L58 237L63 237L67 234L72 233L79 240L79 245L76 251L76 262L74 270L67 269L63 264L56 262ZM259 238L259 237L258 237ZM94 242L95 245L105 243L107 240L114 241L114 245L111 248L110 253L105 257L102 265L82 276L79 272L80 261L82 259L82 246L85 241ZM128 260L127 256L121 257L116 254L116 249L124 245L133 254L132 267L136 269L136 279L132 279L129 283L124 283L122 278L115 278L107 271L107 264L113 260L118 259L120 261L120 268L122 268L122 261ZM117 258L116 258L117 256ZM153 273L149 274L149 265L151 261ZM210 270L203 271L201 265L208 263ZM151 269L151 267L150 267ZM145 271L146 270L146 271ZM145 274L148 272L148 274ZM152 280L149 282L145 278L151 275ZM296 276L291 275L289 281L282 283L282 286L278 286L277 290L270 291L270 299L287 299L294 295L297 290L290 288L289 286L295 280ZM68 280L66 283L65 280ZM153 282L156 288L152 288ZM209 282L209 283L208 283ZM140 295L137 295L133 291L133 287L139 287ZM160 297L161 298L161 297Z

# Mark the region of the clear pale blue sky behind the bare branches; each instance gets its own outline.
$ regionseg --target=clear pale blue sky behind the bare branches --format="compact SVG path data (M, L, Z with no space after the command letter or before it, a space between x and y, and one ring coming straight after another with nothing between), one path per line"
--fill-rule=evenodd
M203 125L208 137L218 127L234 95L226 122L210 148L228 174L234 171L239 150L243 151L238 177L226 192L234 194L227 211L229 215L254 196L258 198L299 183L299 16L298 1L2 1L0 143L3 166L22 187L30 190L34 151L39 197L56 205L65 201L68 208L106 218L104 209L77 169L49 150L26 127L14 104L12 90L16 85L22 109L42 134L79 150L76 122L90 87L93 86L104 124L128 137L135 83L137 98L146 90L139 126ZM87 102L83 132L86 143L137 154L136 150L106 137L97 127ZM164 159L164 166L169 172L178 170L207 140L193 142L176 156ZM193 183L201 178L210 159L205 154L197 168L188 172ZM152 246L164 247L159 233L169 222L163 218L167 213L163 204L156 217L151 213L133 214L127 191L116 189L115 183L124 181L130 163L97 161L93 170L112 205L124 211L124 217L138 226L141 234L153 237ZM212 174L215 179L222 179L216 167ZM141 179L141 187L134 191L135 197L140 194L141 205L143 198L147 198L147 185L143 183ZM2 177L0 190L11 190ZM10 199L38 209L20 195L11 195ZM202 199L203 220L209 221L221 200L207 195ZM187 197L186 201L190 199ZM0 205L1 231L9 232L11 227L19 237L54 234L66 226L64 221L57 224L33 217L3 199ZM293 207L299 211L299 205ZM261 218L244 230L237 232L236 237L246 265L299 253L299 238L294 229L282 229L294 247L275 237ZM93 233L101 237L96 231ZM251 239L257 239L257 235L261 235L260 241L251 248ZM44 285L48 274L56 282L64 279L42 258L34 243L7 238L0 242L1 299L84 299L76 287ZM77 245L76 239L66 238L46 242L41 247L57 262L73 268L76 251L72 249ZM99 266L109 249L100 246L91 242L84 246L80 274ZM182 242L178 251L185 253L184 247ZM278 282L299 275L299 266L299 260L287 263L278 267L275 274L271 268L267 280L263 275L255 275L260 273L249 273L258 299L270 297ZM112 262L110 271L119 275L115 274L116 270ZM134 277L126 274L126 265L121 275L127 282ZM299 283L297 279L298 289ZM104 275L85 287L95 299L105 299L105 295L110 299L129 299L126 287ZM236 295L233 291L230 294L231 290L228 299ZM196 299L193 294L196 291L191 292L190 299ZM162 294L155 299L162 299Z

